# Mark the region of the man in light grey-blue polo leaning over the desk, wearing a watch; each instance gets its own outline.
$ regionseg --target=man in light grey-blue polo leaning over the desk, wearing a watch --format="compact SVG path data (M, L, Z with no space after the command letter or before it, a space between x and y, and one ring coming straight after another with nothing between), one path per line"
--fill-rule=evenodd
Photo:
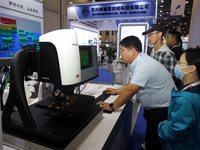
M158 61L142 53L142 44L135 36L121 42L121 57L131 64L131 81L119 89L108 88L107 94L120 94L113 103L98 102L104 110L114 111L128 102L135 94L141 107L145 108L147 121L145 144L147 150L161 150L158 123L167 119L171 91L175 87L171 75Z

